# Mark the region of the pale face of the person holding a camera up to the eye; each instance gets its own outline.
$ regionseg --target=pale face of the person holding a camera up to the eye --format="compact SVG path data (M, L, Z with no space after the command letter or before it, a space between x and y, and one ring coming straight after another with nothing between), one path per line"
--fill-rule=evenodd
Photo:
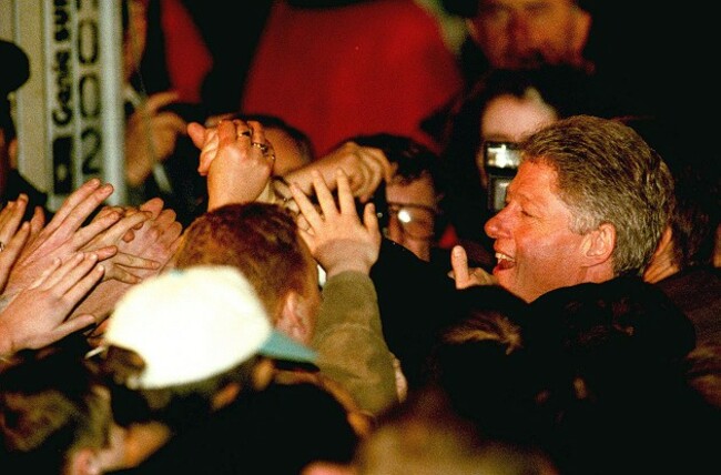
M480 139L496 142L520 142L537 128L558 120L558 114L536 91L529 91L524 98L512 94L498 95L486 104L480 115ZM476 155L476 164L484 188L488 186L484 148Z

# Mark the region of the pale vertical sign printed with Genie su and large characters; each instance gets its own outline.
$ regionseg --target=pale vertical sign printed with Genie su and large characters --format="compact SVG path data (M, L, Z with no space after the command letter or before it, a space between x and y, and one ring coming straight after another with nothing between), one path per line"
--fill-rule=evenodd
M33 3L11 7L11 39L31 62L29 84L16 99L20 170L48 193L52 210L91 178L112 183L115 192L109 202L122 204L121 1L42 0L40 8ZM38 140L44 146L37 146ZM38 154L48 165L29 166Z

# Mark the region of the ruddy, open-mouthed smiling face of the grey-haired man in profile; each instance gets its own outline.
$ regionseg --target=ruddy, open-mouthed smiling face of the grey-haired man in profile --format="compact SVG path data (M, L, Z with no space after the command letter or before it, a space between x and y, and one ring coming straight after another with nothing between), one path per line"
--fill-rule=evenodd
M506 208L488 220L498 283L527 302L583 282L586 235L570 229L571 211L557 194L556 171L521 162L508 185Z

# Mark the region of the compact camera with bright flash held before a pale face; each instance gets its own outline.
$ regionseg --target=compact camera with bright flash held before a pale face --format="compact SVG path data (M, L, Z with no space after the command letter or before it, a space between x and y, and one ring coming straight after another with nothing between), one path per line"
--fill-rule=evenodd
M506 205L506 189L516 176L520 149L516 142L484 142L484 168L488 176L488 209L495 213Z

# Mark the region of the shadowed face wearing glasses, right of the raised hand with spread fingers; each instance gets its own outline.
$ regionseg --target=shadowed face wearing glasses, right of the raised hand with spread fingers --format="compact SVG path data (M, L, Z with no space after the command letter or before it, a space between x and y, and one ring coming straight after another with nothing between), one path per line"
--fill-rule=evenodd
M435 242L436 193L433 180L423 175L409 183L386 185L388 201L387 238L412 251L424 261L430 260Z

